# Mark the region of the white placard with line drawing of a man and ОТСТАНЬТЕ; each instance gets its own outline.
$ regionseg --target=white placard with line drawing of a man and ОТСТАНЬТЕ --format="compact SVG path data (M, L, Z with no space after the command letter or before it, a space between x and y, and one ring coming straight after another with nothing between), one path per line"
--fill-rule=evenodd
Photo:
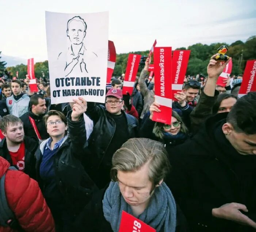
M45 12L51 103L105 102L108 12Z

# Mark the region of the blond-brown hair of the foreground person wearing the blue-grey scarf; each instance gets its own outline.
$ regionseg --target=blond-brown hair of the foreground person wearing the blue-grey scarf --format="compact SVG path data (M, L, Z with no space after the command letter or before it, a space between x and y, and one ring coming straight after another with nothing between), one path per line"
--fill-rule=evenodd
M135 172L146 163L153 186L163 180L171 168L162 143L148 138L131 138L112 157L111 180L118 181L118 170Z

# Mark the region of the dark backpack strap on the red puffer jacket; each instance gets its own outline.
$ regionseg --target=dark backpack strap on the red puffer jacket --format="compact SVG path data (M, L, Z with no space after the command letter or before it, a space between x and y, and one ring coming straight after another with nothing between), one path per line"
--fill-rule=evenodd
M13 166L10 166L8 169L18 171ZM4 175L0 178L0 225L3 227L11 227L13 229L18 229L18 231L23 231L18 223L18 220L14 215L14 212L12 212L12 210L9 208L6 199L4 188L5 174L6 173L4 173Z

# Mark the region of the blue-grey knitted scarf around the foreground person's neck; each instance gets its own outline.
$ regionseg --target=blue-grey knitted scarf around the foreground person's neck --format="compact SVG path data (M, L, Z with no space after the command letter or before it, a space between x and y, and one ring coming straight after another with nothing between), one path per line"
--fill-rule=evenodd
M105 219L111 224L112 230L118 232L122 211L133 214L130 205L122 197L118 182L110 182L102 203ZM148 207L137 218L156 229L157 232L162 227L164 232L175 232L176 203L171 190L164 182L156 187Z

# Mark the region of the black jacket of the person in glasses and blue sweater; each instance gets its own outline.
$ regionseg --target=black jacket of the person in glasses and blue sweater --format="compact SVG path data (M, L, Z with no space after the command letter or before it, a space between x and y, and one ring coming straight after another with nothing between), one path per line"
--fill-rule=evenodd
M55 177L57 186L65 204L74 214L79 212L97 189L91 178L85 172L80 160L85 154L86 130L84 118L73 122L68 113L69 135L54 155ZM39 168L42 162L42 152L46 141L41 143L35 153L37 181L43 192L44 182L40 178Z

